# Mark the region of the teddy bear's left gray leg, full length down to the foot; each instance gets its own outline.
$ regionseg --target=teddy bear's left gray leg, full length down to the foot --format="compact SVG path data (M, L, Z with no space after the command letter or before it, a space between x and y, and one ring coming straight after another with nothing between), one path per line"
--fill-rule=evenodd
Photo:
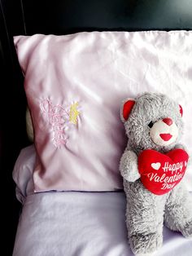
M166 196L156 196L140 180L124 181L127 197L126 223L130 247L135 255L153 255L163 242Z

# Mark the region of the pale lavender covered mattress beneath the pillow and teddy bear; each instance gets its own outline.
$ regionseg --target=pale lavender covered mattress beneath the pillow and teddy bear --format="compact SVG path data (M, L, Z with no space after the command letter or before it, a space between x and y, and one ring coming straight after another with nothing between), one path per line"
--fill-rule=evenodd
M131 256L124 192L33 193L33 146L24 148L13 172L23 204L13 256ZM192 196L192 195L191 195ZM164 227L156 256L191 256L192 241Z

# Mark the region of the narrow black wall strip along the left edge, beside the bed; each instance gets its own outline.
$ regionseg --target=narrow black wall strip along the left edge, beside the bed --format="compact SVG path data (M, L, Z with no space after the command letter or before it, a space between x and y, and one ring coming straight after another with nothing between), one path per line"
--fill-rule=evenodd
M2 254L11 255L20 214L12 170L20 148L28 145L25 131L23 76L13 51L12 35L24 33L20 1L0 2L0 183Z

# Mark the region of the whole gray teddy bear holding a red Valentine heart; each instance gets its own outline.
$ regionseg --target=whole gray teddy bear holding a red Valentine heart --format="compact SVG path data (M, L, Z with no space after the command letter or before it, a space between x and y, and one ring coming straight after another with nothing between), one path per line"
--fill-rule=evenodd
M153 255L163 224L192 237L192 198L181 180L188 154L178 143L182 108L166 95L144 93L126 99L120 113L129 139L120 159L129 243L133 254Z

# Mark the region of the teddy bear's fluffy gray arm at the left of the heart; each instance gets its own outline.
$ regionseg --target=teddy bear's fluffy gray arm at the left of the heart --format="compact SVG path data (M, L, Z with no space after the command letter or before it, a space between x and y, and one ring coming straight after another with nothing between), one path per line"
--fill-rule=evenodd
M140 178L137 167L137 155L133 151L125 151L120 159L120 174L129 182Z

